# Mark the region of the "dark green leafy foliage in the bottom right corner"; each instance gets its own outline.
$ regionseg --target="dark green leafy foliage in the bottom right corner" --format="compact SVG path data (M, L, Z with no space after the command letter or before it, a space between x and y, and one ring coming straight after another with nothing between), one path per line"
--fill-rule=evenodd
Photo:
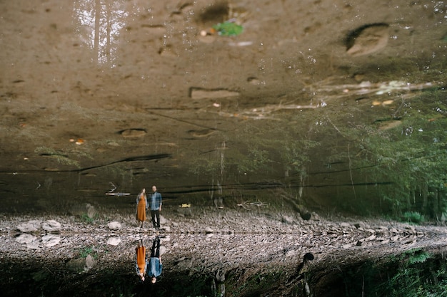
M433 297L447 296L446 268L441 254L418 248L341 271L346 296Z

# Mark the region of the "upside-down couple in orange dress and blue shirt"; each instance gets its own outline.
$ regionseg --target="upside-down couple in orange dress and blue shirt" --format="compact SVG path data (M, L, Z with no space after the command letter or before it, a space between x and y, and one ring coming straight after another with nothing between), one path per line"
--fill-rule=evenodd
M141 281L144 281L145 276L149 276L151 283L155 283L157 277L161 275L162 269L159 236L156 236L152 241L149 260L146 259L146 247L143 245L143 240L140 239L135 249L135 270Z

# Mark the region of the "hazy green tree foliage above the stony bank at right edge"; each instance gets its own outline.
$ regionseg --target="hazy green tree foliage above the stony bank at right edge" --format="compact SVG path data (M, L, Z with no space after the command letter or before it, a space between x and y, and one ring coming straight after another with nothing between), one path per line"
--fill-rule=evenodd
M428 216L439 217L446 209L447 102L443 98L440 91L429 90L402 99L389 118L399 125L384 125L388 119L381 118L371 125L363 120L351 126L331 121L344 138L341 145L350 146L344 152L338 149L328 153L329 163L349 159L353 182L364 177L390 184L374 189L377 192L371 193L369 201L362 198L363 206L381 207L375 212L391 212L397 218L406 213L406 219L416 222ZM348 202L359 207L358 201Z

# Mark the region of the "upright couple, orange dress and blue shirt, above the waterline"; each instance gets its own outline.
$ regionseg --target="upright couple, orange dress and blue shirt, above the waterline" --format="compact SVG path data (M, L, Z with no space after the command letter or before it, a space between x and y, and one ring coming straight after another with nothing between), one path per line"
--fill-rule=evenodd
M149 204L146 189L142 189L136 197L136 220L139 222L140 228L143 228L143 224L146 222L146 210L149 207L151 209L152 225L155 229L160 229L161 194L157 192L156 186L152 186L152 191Z

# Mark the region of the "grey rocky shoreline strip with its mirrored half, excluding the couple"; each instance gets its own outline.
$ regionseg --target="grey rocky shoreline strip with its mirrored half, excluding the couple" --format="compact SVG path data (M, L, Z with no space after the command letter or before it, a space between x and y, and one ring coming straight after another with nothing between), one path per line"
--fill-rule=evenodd
M89 221L75 216L3 215L0 260L3 279L10 280L4 284L6 291L14 293L14 286L26 283L26 278L45 283L60 277L70 280L66 286L71 286L104 271L119 271L138 286L134 276L136 243L141 239L150 247L155 236L161 236L162 242L164 277L160 286L169 283L170 276L179 275L210 276L216 282L219 273L225 276L228 271L248 267L282 267L293 277L306 253L314 256L311 266L325 267L381 259L406 249L446 249L443 226L329 220L315 213L303 220L293 213L212 208L184 212L164 210L161 231L140 229L133 216L121 214L103 214Z

